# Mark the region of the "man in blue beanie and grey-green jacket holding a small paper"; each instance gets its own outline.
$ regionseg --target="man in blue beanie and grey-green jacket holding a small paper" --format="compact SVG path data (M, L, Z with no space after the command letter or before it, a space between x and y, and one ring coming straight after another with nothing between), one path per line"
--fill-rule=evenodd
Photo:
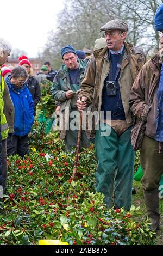
M56 101L61 103L60 138L65 141L65 149L71 151L71 148L77 145L79 118L76 118L75 127L72 117L73 113L79 113L76 102L81 87L80 81L84 75L85 63L78 58L76 50L71 45L61 49L61 58L64 65L54 78L51 94ZM87 148L89 145L90 141L87 139L85 131L82 131L80 147Z

